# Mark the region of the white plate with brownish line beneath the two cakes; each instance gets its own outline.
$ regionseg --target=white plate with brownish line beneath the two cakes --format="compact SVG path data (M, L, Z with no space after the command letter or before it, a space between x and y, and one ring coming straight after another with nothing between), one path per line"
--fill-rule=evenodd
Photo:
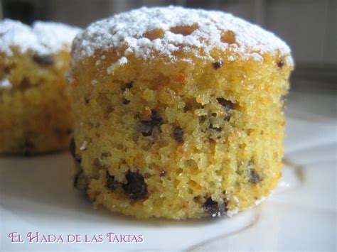
M335 251L336 97L292 92L287 134L286 166L277 190L230 219L137 221L110 214L93 209L73 190L73 160L67 152L0 158L1 251ZM24 242L11 243L13 232ZM29 243L29 232L39 232L39 241L43 235L62 236L64 243ZM119 240L142 235L143 242L109 243L107 233ZM81 242L68 243L68 234L80 235ZM99 235L102 243L85 242Z

